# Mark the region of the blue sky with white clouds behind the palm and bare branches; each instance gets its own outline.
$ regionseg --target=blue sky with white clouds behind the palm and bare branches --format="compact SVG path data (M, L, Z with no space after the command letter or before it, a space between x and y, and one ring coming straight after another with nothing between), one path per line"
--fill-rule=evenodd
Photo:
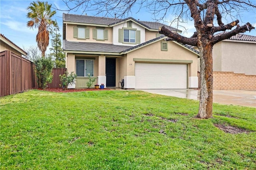
M0 0L0 33L2 33L5 37L10 39L19 47L29 47L31 45L37 46L36 44L36 34L37 29L30 29L26 27L26 23L29 20L26 18L26 14L28 11L26 8L30 6L31 0ZM62 0L48 0L48 4L52 4L52 7L56 7L61 10L66 10L67 7ZM52 9L54 10L54 9ZM136 12L135 12L136 11ZM140 19L141 21L154 21L154 17L141 9L134 10L130 17L135 19ZM56 10L56 15L52 18L53 20L57 20L58 25L60 27L60 33L62 34L62 14L67 13L63 11ZM88 16L95 16L95 12L86 12ZM78 14L81 15L82 11L79 10L77 12L71 11L70 14ZM114 16L114 14L113 14ZM246 22L250 22L254 27L256 27L256 10L243 12L241 15L242 21L240 21L240 25L243 25ZM110 17L110 16L109 16ZM111 18L111 17L110 17ZM173 16L170 14L166 17L166 21L172 21ZM232 20L227 19L223 20L224 23L230 23ZM162 21L163 23L163 21ZM165 23L169 24L169 23ZM178 27L178 29L183 31L184 36L190 37L194 31L194 23L193 21L189 21L188 23L181 23L180 25L186 27L187 30L184 30L183 27ZM176 25L171 25L172 27L176 27ZM250 33L246 32L247 35L256 36L256 30L252 30ZM50 43L49 43L50 45ZM49 47L48 47L49 49ZM49 50L46 51L49 53Z

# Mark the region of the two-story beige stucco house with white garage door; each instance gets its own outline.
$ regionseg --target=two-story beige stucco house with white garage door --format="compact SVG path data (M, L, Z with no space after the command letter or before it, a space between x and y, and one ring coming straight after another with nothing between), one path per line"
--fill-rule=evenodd
M88 74L105 87L197 88L198 51L158 33L164 24L63 14L63 49L69 88L86 88ZM165 25L172 31L180 30Z

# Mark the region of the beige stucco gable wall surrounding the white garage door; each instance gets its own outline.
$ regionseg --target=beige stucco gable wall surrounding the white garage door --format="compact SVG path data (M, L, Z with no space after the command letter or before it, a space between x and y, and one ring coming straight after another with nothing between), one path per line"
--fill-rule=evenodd
M188 76L197 76L197 55L172 41L168 41L168 51L161 51L161 41L127 54L127 76L134 76L134 58L165 59L165 60L192 60L188 64Z

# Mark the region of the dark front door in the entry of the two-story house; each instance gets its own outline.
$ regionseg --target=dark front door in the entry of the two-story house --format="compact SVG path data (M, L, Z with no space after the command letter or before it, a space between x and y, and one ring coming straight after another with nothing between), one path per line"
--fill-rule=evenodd
M115 58L106 58L106 87L116 87Z

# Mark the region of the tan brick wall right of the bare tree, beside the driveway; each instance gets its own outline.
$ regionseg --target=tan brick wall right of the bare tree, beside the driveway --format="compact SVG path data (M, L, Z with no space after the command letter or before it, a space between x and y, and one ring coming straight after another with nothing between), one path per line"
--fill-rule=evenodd
M256 90L256 75L213 72L215 90Z

